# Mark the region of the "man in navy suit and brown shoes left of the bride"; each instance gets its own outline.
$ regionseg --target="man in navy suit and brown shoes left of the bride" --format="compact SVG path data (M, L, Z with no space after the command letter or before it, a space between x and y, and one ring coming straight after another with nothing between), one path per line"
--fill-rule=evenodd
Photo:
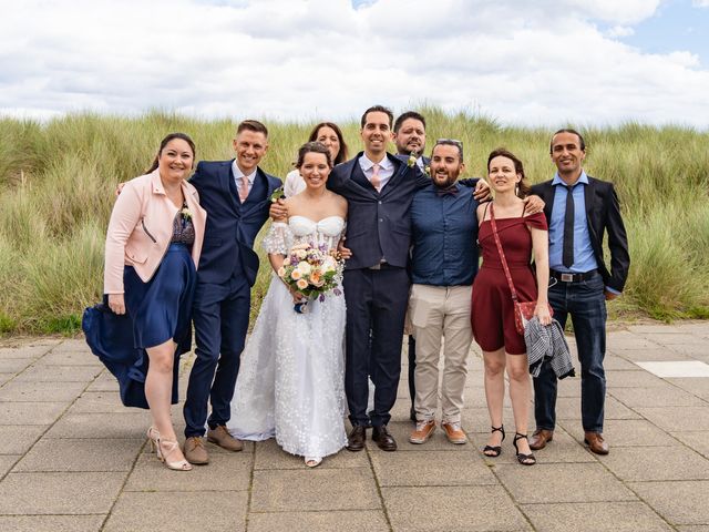
M268 150L268 130L255 120L236 130L232 161L203 161L189 182L207 211L197 269L193 320L196 359L185 400L185 458L208 463L207 440L232 451L242 442L226 430L258 272L254 239L268 218L270 195L280 180L258 167ZM207 420L207 402L212 415Z

